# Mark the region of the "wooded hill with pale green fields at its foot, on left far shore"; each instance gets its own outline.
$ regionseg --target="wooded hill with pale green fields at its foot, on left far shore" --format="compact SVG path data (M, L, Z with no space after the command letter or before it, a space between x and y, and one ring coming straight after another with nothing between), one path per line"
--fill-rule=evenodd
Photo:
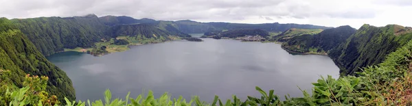
M168 28L168 27L166 27ZM144 23L130 24L130 25L115 25L108 29L111 38L104 39L101 42L96 42L95 47L89 49L80 49L91 55L101 56L108 53L121 52L128 50L129 45L151 44L158 42L166 42L177 40L180 38L191 38L190 35L184 34L179 30L166 31L160 29L155 25L148 25ZM70 49L70 51L76 51Z

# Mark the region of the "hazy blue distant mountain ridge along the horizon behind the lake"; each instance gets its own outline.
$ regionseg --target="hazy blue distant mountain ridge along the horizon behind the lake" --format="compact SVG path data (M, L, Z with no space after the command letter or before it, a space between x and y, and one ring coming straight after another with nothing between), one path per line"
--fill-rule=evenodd
M100 20L108 21L113 19L114 23L106 23L107 25L113 24L132 24L132 23L147 23L152 25L159 25L162 22L167 22L168 24L176 27L180 31L193 34L193 33L205 33L212 30L231 30L231 29L263 29L265 31L286 31L290 28L299 29L329 29L332 27L323 27L317 25L299 25L293 23L280 24L280 23L262 23L262 24L245 24L245 23L223 23L223 22L211 22L211 23L201 23L190 20L181 21L155 21L148 18L133 19L128 16L102 16Z

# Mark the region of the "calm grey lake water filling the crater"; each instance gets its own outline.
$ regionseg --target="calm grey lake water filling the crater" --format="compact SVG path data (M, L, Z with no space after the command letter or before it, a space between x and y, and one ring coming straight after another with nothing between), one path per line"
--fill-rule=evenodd
M78 100L104 99L104 90L113 97L137 97L153 90L155 97L169 92L174 97L197 95L212 101L214 95L246 99L260 96L255 90L275 90L283 98L302 96L319 76L339 77L332 59L321 55L290 55L280 44L203 39L146 44L130 50L93 57L64 52L47 57L73 81Z

